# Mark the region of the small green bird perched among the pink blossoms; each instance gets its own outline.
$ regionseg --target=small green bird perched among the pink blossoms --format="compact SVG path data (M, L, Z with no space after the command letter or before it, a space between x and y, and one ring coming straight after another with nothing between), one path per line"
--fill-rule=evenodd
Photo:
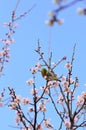
M43 78L45 78L48 81L50 81L50 80L58 80L57 75L54 72L51 72L50 70L47 70L46 68L42 68L41 74L42 74Z

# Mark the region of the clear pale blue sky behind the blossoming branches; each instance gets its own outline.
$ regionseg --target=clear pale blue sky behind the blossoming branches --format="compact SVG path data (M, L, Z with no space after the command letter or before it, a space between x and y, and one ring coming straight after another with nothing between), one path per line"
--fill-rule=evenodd
M17 0L1 0L0 1L0 39L5 37L7 28L3 27L3 22L9 22L11 11L15 7ZM36 7L24 18L16 21L19 27L13 36L15 43L11 45L11 59L5 65L4 76L1 77L0 91L10 85L15 88L19 95L29 95L29 89L26 86L26 80L32 77L28 71L30 67L38 62L38 55L34 49L37 47L37 40L40 39L42 49L48 56L49 37L51 36L51 51L53 52L53 61L57 61L63 56L67 56L70 60L72 49L76 43L76 53L74 62L74 75L79 77L80 90L86 91L84 84L86 83L86 16L77 14L78 7L85 7L85 4L78 3L59 14L59 18L64 19L64 24L59 26L55 24L53 27L45 25L48 20L48 11L56 8L49 0L21 0L16 15L20 15L24 11L36 3ZM50 35L51 32L51 35ZM50 35L50 36L49 36ZM64 63L65 64L65 63ZM65 73L64 64L57 71ZM10 111L7 107L0 108L0 129L12 130L8 125L14 125L15 112Z

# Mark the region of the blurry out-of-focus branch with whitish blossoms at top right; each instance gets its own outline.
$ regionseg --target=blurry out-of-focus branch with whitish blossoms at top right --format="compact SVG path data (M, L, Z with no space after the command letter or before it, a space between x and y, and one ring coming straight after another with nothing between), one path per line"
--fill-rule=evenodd
M58 25L62 25L64 23L64 19L58 18L59 12L61 10L64 10L64 9L78 3L79 0L72 0L72 1L52 0L52 2L57 5L57 8L53 11L49 11L49 13L48 13L50 20L45 21L45 24L47 24L49 26L53 26L54 23L58 23ZM82 2L84 2L84 0L82 0ZM78 8L77 12L78 12L78 14L85 16L86 15L86 8Z

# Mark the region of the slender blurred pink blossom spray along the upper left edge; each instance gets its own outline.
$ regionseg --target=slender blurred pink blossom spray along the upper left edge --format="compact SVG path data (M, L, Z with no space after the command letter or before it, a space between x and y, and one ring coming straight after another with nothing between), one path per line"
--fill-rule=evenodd
M3 26L8 27L8 32L5 34L6 38L2 38L0 40L0 44L2 43L2 47L0 50L0 75L2 75L2 71L5 67L5 62L9 62L10 59L10 48L9 46L14 43L14 39L12 35L15 33L15 28L18 27L17 24L14 24L14 12L12 12L12 19L9 23L4 22Z

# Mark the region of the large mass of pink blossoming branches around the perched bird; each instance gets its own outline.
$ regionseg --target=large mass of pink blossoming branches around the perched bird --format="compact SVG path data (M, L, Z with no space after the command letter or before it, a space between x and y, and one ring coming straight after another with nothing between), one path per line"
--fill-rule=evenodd
M9 107L17 111L15 118L16 124L22 124L22 130L54 129L51 120L46 117L46 113L49 112L47 106L48 104L51 104L51 108L54 108L56 112L55 116L59 116L66 129L85 127L86 121L80 120L80 118L84 116L86 92L82 92L81 96L77 97L77 100L74 95L76 89L80 88L78 77L76 76L75 78L72 78L75 47L73 49L71 62L68 61L64 65L67 70L67 75L57 76L59 80L52 80L52 78L51 80L47 80L44 78L45 84L41 87L36 85L34 80L36 77L35 74L41 73L43 65L47 68L50 66L44 59L43 53L39 47L36 52L41 57L41 63L38 62L34 68L30 69L33 78L26 81L30 88L32 99L17 96L14 90L10 89L12 101L11 104L9 104ZM54 68L64 60L66 59L62 58L62 60L56 63L55 66L51 66L52 68L50 69L54 71ZM73 104L75 104L76 108L72 108ZM22 105L27 105L27 113L29 113L29 117L24 114ZM40 117L40 114L41 118L38 118ZM60 127L62 129L61 124Z

